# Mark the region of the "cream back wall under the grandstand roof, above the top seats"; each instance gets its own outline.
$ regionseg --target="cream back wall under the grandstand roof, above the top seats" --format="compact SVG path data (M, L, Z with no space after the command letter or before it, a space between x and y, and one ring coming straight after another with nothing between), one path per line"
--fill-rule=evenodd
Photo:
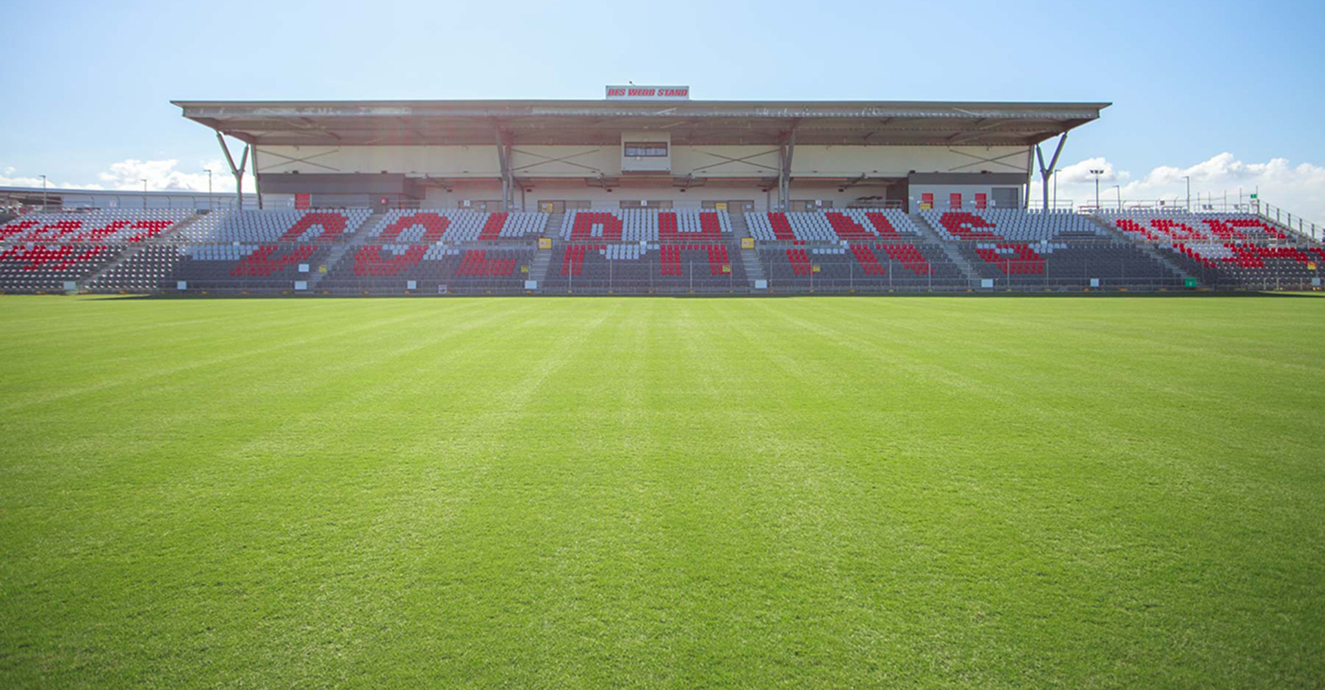
M698 208L705 200L753 200L761 211L775 201L776 192L765 191L778 175L774 147L673 146L670 175L656 177L623 173L621 152L619 146L515 146L511 167L526 184L515 189L514 200L526 211L543 200L588 201L592 208L617 208L623 199L670 200L676 208ZM949 195L958 192L965 200L986 193L992 203L995 187L1024 184L1031 162L1027 154L1026 147L799 146L792 159L791 200L818 199L843 208L863 196L881 196L909 201L914 209L922 193L933 192L935 204L945 208ZM501 199L496 146L266 147L258 160L264 189L270 191L352 192L344 184L323 188L318 181L341 177L374 181L372 189L363 191L378 195L387 192L378 189L376 181L407 180L408 191L395 193L435 208ZM299 175L286 175L293 171ZM682 192L672 180L686 175L706 184ZM909 188L877 180L845 185L861 175L908 180ZM587 181L599 179L608 180L611 191Z

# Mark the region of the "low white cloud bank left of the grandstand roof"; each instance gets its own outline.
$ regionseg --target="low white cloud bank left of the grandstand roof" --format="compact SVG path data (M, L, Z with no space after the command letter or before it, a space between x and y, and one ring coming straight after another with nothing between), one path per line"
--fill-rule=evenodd
M98 173L97 179L99 183L87 184L50 179L46 180L46 185L65 189L125 189L136 192L142 191L143 180L147 180L147 189L150 192L207 192L207 172L203 171L211 170L213 192L235 192L235 177L231 175L231 170L225 162L220 159L199 162L193 166L193 170L197 172L184 172L178 170L178 167L179 162L175 159L126 159L119 163L111 163L110 168ZM4 175L0 175L0 187L41 187L41 176L16 175L17 172L13 166L5 167ZM252 179L246 172L244 181L252 184Z

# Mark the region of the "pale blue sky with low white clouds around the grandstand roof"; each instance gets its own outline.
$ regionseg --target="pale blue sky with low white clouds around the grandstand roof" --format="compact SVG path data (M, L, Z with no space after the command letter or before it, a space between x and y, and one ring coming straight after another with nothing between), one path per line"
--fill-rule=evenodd
M0 184L196 185L216 142L172 98L600 98L631 79L698 99L1110 101L1069 138L1061 197L1104 166L1128 197L1191 173L1325 221L1325 4L928 5L7 0Z

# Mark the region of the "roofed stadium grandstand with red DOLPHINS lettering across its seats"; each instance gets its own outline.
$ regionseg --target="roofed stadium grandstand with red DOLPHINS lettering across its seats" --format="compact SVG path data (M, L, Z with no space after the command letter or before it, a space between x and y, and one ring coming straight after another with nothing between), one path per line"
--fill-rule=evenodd
M1032 177L1052 176L1068 132L1108 103L652 93L176 102L215 130L236 193L52 189L38 203L36 189L0 189L11 211L0 225L0 291L1321 286L1318 229L1259 200L1216 211L1030 199ZM245 195L249 176L256 188Z

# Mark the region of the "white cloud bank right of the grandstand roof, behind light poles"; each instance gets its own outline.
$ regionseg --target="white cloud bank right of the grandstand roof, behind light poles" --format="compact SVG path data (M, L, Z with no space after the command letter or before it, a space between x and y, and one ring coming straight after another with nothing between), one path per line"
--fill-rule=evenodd
M1185 203L1187 180L1191 177L1191 203L1198 205L1211 199L1215 207L1222 207L1227 193L1228 204L1238 203L1239 189L1243 199L1260 189L1264 203L1284 208L1287 212L1302 215L1308 222L1325 224L1325 167L1310 163L1291 164L1287 159L1275 158L1267 163L1238 160L1230 152L1211 156L1208 160L1190 167L1159 166L1141 177L1125 170L1116 170L1104 158L1092 158L1060 168L1059 203L1072 200L1079 205L1094 204L1094 176L1090 170L1104 170L1100 176L1100 203L1105 207L1117 203L1121 187L1124 203L1158 201L1169 204ZM1049 183L1052 185L1052 180ZM1052 187L1049 189L1052 196ZM1031 205L1040 199L1040 184L1031 184Z

